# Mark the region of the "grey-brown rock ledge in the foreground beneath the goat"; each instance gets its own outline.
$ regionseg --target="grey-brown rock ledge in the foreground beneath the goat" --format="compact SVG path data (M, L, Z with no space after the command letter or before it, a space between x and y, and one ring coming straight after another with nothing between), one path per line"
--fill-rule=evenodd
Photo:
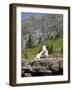
M63 75L63 59L48 58L39 61L22 61L21 76L52 76Z

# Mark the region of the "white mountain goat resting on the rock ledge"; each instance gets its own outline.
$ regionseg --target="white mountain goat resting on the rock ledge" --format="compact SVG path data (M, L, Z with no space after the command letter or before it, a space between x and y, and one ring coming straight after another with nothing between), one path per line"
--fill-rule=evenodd
M48 57L48 50L46 49L46 46L42 46L42 51L36 55L35 60L46 57Z

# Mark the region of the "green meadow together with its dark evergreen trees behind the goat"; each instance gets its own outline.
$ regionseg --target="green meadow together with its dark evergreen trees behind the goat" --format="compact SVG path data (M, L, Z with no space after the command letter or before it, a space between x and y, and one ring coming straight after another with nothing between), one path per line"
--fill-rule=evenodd
M22 49L22 58L25 58L27 60L33 60L37 53L42 50L43 45L46 45L50 56L56 57L63 55L63 38L61 37L57 39L47 39L43 42L41 41L41 39L39 39L38 45L32 47L31 36L29 36L29 40L27 43L27 48Z

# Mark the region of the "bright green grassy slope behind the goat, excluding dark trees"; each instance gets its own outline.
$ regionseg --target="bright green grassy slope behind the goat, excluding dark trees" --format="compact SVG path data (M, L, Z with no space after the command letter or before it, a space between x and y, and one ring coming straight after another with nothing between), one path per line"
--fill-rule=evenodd
M51 56L62 56L61 48L63 47L63 39L58 38L55 40L44 40L36 47L22 49L22 59L33 60L37 53L41 50L42 46L46 45L50 47L52 45L53 51L50 53Z

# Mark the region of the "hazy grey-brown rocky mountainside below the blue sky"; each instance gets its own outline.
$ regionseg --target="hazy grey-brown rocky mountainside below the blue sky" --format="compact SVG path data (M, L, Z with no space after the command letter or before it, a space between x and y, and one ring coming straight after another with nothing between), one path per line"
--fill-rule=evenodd
M39 38L54 38L57 34L63 33L63 15L60 14L45 14L42 18L31 16L22 21L22 48L25 48L29 35L35 44Z

